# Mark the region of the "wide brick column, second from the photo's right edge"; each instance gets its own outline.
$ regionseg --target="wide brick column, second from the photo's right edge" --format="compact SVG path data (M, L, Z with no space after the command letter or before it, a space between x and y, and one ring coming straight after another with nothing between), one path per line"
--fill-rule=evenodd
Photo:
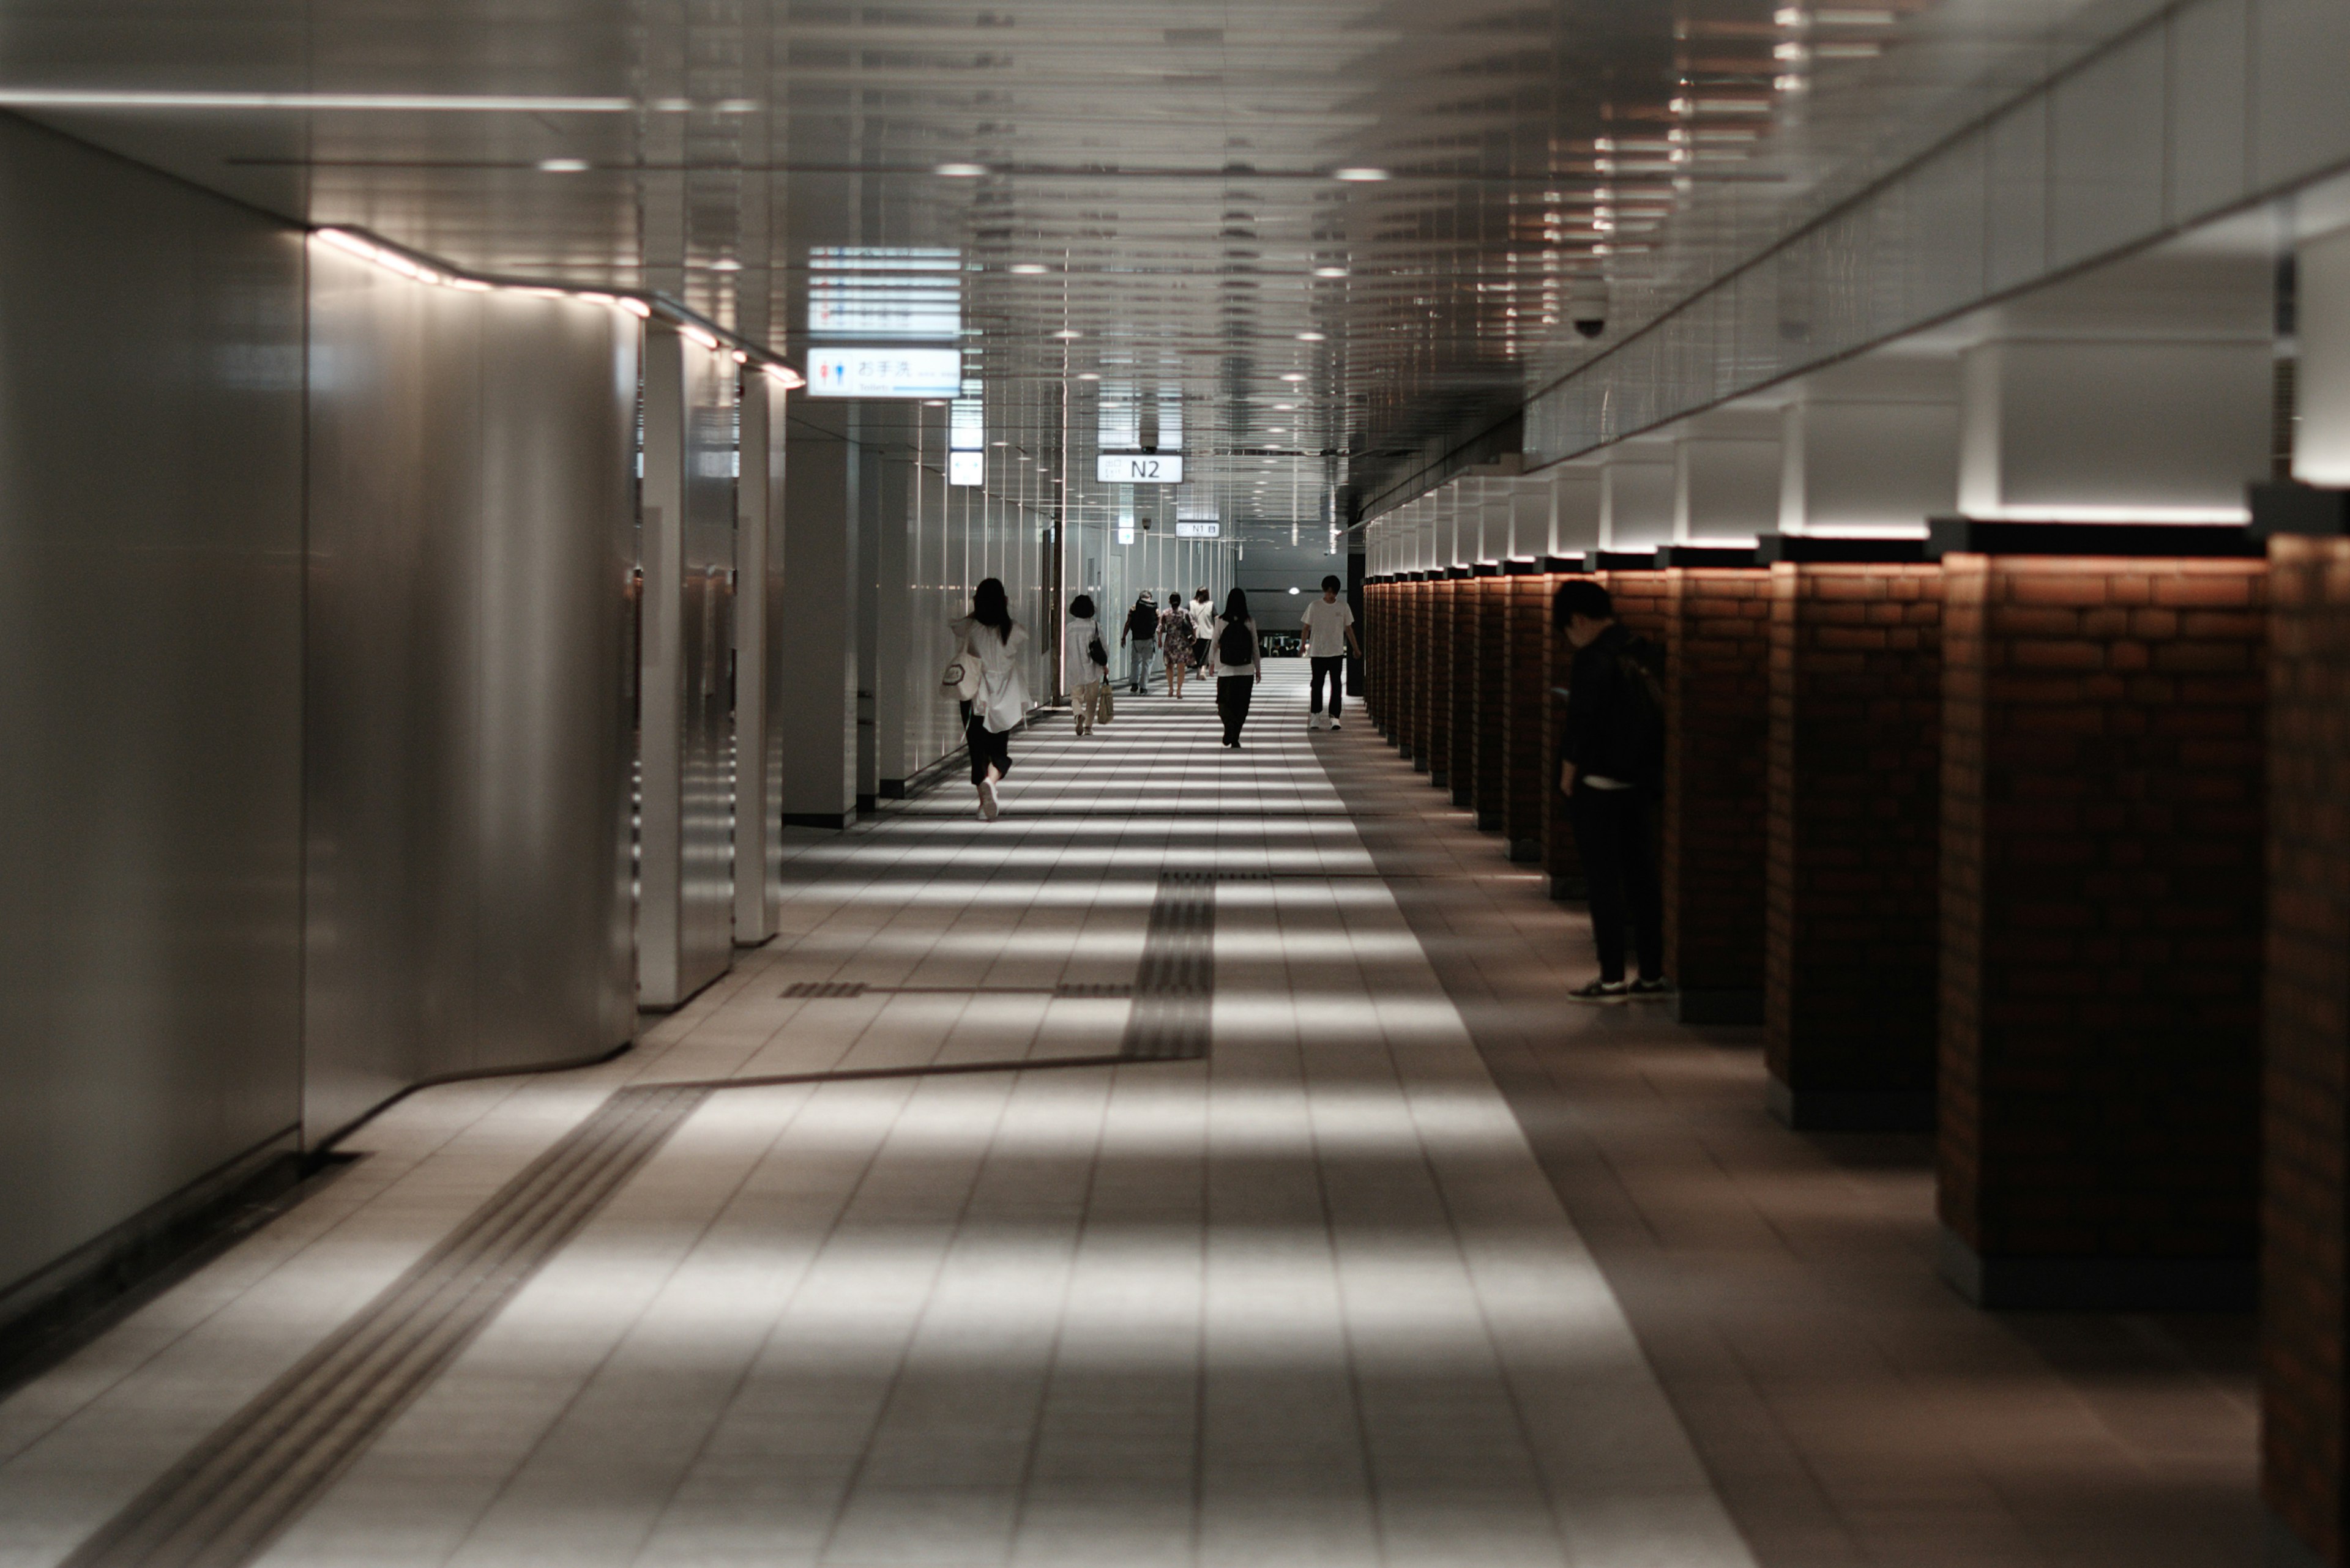
M1936 543L1943 1272L1986 1307L2247 1305L2268 567L2242 529Z

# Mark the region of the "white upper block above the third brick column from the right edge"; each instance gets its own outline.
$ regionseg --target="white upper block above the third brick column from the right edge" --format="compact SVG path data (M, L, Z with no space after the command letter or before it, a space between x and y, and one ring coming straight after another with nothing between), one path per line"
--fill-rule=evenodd
M1871 355L1779 411L1779 531L1918 536L1958 512L1958 357Z

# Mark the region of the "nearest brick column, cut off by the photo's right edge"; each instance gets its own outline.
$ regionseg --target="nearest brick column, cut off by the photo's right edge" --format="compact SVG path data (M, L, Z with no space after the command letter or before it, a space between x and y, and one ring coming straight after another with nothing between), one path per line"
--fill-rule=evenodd
M2261 1493L2343 1563L2350 1425L2350 541L2270 543Z

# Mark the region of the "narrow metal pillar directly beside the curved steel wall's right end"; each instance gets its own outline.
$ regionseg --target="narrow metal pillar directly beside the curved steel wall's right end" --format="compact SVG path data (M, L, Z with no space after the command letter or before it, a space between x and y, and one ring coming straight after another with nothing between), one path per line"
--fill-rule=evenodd
M644 785L637 1004L733 964L733 360L644 334Z

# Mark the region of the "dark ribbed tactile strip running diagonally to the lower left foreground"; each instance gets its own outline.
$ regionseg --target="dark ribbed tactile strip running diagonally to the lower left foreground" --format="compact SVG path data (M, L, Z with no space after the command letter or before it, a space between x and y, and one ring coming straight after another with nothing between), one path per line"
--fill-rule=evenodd
M623 1088L92 1535L66 1568L268 1549L707 1095Z

